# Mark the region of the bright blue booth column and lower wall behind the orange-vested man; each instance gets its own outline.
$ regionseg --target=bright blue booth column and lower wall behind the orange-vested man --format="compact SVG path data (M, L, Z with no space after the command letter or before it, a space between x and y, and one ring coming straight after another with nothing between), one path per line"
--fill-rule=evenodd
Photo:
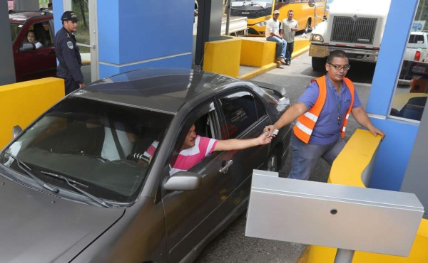
M367 112L386 133L379 147L370 187L399 190L419 124L390 119L389 107L407 45L418 0L391 0L382 45L372 81Z

